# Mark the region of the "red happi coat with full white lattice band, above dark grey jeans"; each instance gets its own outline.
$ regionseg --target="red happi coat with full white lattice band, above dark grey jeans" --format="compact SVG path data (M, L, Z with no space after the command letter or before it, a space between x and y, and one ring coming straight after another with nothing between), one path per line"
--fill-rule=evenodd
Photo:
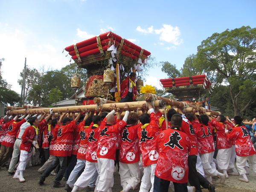
M73 149L73 131L76 128L76 122L73 120L67 125L61 125L58 129L57 140L55 143L54 156L71 156Z

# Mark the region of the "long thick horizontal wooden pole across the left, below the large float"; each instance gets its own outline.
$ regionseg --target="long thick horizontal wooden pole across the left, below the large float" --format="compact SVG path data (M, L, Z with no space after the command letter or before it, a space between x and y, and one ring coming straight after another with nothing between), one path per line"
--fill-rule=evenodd
M125 104L128 104L129 108L131 110L136 110L137 108L141 108L142 105L144 103L146 103L145 101L140 101L140 102L124 102L124 103L115 103L116 107L118 108L124 108ZM163 107L163 100L155 100L154 101L154 106L155 107ZM106 104L102 104L102 110L106 111L109 109L109 106L111 105L111 103L106 103ZM90 110L90 111L95 111L95 108L98 105L77 105L77 106L69 106L69 107L59 107L59 108L52 108L53 109L53 113L57 113L58 111L61 113L65 113L67 111L67 109L69 110L69 112L77 112L79 110L79 108L81 110ZM50 108L41 108L41 109L27 109L27 113L41 113L41 112L49 112ZM26 113L26 109L21 109L21 110L13 110L13 111L9 111L9 114L24 114Z

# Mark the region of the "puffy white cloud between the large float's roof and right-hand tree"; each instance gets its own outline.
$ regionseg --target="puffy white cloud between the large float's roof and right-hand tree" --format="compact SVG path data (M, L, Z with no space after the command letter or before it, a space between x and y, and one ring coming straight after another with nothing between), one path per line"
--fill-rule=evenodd
M137 31L142 33L154 33L159 35L159 40L164 41L167 43L171 43L174 45L179 45L182 43L182 39L180 38L180 29L179 27L163 24L163 27L160 29L154 29L153 26L148 27L147 29L141 28L141 26L137 26ZM160 45L163 45L162 42L160 42Z

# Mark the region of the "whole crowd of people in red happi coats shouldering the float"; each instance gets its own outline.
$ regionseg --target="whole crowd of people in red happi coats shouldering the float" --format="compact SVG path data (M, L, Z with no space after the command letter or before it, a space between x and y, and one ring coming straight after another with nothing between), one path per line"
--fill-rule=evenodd
M201 187L214 192L212 177L223 184L229 175L240 175L240 181L249 182L248 162L250 176L256 176L256 135L240 116L231 121L174 108L163 116L150 101L149 95L140 115L130 112L127 103L122 110L110 105L109 113L98 108L95 113L79 110L76 116L69 111L55 116L52 109L49 114L6 115L0 122L0 166L11 159L9 175L25 182L26 165L38 164L41 157L45 163L38 169L38 184L55 175L53 187L68 192L111 192L115 171L122 192L201 192Z

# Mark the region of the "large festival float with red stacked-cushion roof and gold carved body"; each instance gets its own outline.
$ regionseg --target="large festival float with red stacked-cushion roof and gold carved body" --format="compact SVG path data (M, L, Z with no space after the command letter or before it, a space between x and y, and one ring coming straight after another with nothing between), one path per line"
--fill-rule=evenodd
M84 105L93 97L102 97L117 102L120 100L120 84L130 72L141 71L151 54L132 42L106 32L65 48L78 68L87 70ZM106 67L108 66L108 69ZM104 70L106 69L106 70ZM76 81L74 81L76 82ZM138 87L143 87L142 79L137 79ZM75 88L75 85L72 85Z

